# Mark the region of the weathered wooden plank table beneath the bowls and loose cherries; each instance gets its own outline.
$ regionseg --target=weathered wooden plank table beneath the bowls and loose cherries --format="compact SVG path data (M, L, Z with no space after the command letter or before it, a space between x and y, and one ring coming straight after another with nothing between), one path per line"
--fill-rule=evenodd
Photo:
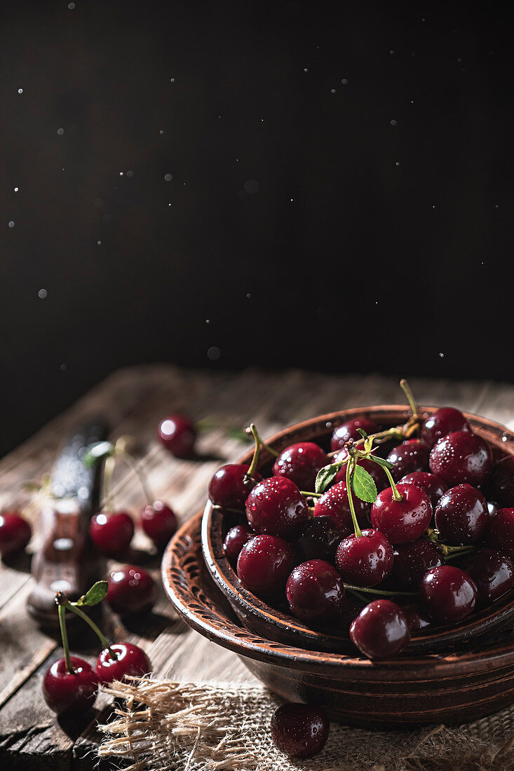
M514 386L493 382L450 382L411 379L420 405L456 406L487 415L514 429ZM265 374L247 369L234 374L150 365L114 372L72 408L52 420L36 436L0 462L0 506L26 503L22 484L49 473L60 440L88 418L104 417L117 438L134 437L140 464L156 497L171 502L181 520L205 502L208 480L228 460L236 460L244 446L212 429L198 441L200 460L178 460L157 444L155 429L169 412L188 412L194 419L225 416L237 426L254 420L262 436L323 412L348 406L404 402L397 379L380 375L318 375L289 370ZM134 513L143 506L134 473L117 470L117 505ZM37 545L37 532L29 550ZM135 546L150 549L138 533ZM140 554L158 574L157 555ZM131 559L132 561L132 559ZM96 763L96 717L110 712L105 697L97 702L93 722L58 722L41 695L46 667L62 655L58 641L39 631L25 611L32 579L28 559L15 567L0 567L0 768L90 769ZM144 628L124 628L120 619L105 614L103 625L113 638L131 639L145 648L155 675L179 680L252 682L240 659L190 630L175 617L162 594ZM93 660L96 645L84 653ZM102 701L103 699L103 701ZM105 763L100 768L110 767Z

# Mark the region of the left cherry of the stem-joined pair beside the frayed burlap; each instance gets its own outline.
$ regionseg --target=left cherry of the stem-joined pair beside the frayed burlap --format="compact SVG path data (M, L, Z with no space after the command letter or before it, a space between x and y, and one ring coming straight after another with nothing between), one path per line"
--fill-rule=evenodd
M86 712L98 693L98 677L90 665L76 656L70 656L70 661L73 672L67 672L66 659L59 658L43 676L43 699L58 715Z

